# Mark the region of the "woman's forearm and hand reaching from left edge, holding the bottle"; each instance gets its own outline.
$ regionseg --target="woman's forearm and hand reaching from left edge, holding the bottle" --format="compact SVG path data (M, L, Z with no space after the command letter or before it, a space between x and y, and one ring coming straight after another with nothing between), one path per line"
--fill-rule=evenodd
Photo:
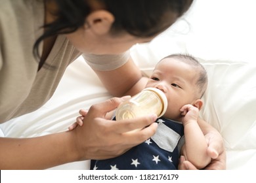
M106 113L122 101L112 98L93 105L83 119L83 126L72 131L28 139L0 138L0 169L46 169L72 161L123 154L154 135L157 116L119 122L106 120Z

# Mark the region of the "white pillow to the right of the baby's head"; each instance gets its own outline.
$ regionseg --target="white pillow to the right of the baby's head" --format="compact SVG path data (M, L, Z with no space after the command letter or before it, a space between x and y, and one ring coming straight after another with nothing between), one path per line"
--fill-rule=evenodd
M256 66L203 61L209 84L202 118L219 130L227 149L256 148Z

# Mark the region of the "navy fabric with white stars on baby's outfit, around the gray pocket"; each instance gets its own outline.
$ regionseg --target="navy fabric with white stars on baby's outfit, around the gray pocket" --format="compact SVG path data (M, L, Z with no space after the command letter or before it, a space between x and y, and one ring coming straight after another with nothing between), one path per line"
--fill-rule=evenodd
M164 123L173 131L179 133L182 137L184 135L184 128L182 124L159 118L159 123ZM168 134L163 134L163 138ZM146 169L177 169L179 163L179 150L176 146L173 152L164 150L156 144L151 138L142 142L141 144L131 148L125 154L116 158L104 160L92 160L91 169L106 170L106 169L122 169L122 170L146 170Z

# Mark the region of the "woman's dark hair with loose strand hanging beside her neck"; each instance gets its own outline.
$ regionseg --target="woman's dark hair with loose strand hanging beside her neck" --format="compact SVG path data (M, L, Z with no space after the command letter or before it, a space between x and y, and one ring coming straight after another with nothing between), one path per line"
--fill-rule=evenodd
M53 15L56 20L44 25L45 32L33 46L33 54L39 57L39 44L47 37L72 33L85 24L91 13L89 0L45 0L54 1L58 7ZM126 31L136 37L152 37L161 33L192 4L193 0L93 0L110 11L115 22L112 34Z

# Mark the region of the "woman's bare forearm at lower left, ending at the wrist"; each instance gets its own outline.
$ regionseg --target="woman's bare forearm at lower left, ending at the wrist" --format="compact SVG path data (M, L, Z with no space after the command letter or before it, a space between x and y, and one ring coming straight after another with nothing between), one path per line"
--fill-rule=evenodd
M72 133L28 139L0 138L0 169L47 169L75 161Z

